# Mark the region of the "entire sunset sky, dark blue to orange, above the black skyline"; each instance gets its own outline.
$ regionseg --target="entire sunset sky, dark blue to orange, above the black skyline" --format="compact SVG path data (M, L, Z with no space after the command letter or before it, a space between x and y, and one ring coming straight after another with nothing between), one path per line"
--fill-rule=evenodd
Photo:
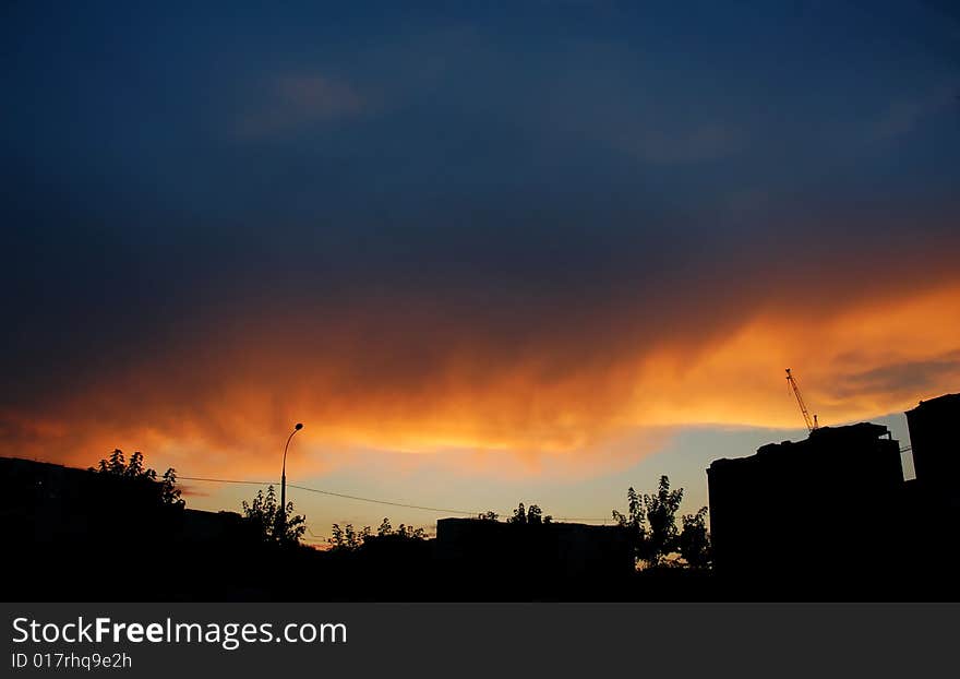
M262 4L0 8L0 454L269 481L302 421L298 485L602 521L802 438L787 367L904 444L960 391L950 3Z

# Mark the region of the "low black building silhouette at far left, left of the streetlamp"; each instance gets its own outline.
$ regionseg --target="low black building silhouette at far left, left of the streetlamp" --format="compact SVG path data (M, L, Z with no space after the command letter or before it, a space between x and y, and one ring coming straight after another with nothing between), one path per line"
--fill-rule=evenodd
M239 596L245 583L225 573L243 562L249 525L165 507L160 493L155 481L0 457L5 600Z

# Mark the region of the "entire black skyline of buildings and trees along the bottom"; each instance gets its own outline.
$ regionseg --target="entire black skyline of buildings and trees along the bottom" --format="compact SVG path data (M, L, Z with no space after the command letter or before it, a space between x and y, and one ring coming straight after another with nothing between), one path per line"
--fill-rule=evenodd
M140 452L87 469L0 458L15 555L3 586L36 600L949 599L960 492L940 470L956 465L960 394L907 415L923 461L912 479L886 427L821 427L715 460L709 514L680 515L684 490L661 476L652 493L631 487L611 525L520 502L505 517L441 519L435 536L388 517L334 524L324 550L301 541L305 517L273 485L242 514L214 513L187 508L176 470ZM57 574L65 557L71 577ZM192 565L176 567L183 557Z

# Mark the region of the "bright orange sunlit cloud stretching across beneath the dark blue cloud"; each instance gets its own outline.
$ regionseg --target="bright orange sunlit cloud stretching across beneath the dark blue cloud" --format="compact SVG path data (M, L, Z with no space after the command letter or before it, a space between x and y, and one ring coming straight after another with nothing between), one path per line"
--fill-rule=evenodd
M469 470L523 476L549 463L585 474L656 450L675 427L796 428L785 367L825 425L958 390L960 282L825 309L771 299L719 329L684 326L681 340L653 329L635 347L628 331L611 338L583 327L548 327L512 347L423 308L373 321L327 312L316 324L277 314L259 331L220 325L199 345L104 374L43 410L3 413L4 454L89 465L120 446L181 472L265 477L290 425L303 420L301 475L362 450L466 450ZM279 332L285 324L295 337ZM649 445L616 446L638 429Z

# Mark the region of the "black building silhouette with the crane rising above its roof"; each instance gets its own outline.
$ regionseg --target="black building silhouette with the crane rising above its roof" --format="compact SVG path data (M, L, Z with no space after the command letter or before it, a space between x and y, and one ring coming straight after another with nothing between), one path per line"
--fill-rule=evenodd
M869 422L717 460L707 478L715 568L747 579L837 577L883 563L903 487L900 444Z

